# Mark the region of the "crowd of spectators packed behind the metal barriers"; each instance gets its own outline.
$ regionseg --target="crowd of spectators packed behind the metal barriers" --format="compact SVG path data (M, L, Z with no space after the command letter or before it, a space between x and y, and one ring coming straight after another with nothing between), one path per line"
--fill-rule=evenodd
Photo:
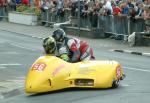
M130 16L133 19L143 18L147 27L150 25L150 0L33 0L34 6L41 11L48 10L59 17L64 16L65 10L70 11L72 17L77 16L78 1L81 18L89 16L91 21L96 21L100 15ZM30 3L29 0L0 0L0 12L6 6L9 10L16 10L19 4Z

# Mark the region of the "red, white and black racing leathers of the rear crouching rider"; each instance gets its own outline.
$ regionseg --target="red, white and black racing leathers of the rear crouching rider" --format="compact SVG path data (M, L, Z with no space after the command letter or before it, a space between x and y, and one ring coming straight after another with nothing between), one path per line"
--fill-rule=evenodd
M70 62L95 59L93 50L86 41L65 37L64 43L69 49Z

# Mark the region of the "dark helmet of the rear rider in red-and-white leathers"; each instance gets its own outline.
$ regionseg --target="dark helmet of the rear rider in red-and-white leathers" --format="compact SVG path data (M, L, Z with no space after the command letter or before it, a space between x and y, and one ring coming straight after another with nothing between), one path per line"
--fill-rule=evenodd
M64 38L66 36L66 33L63 29L57 29L53 32L52 37L57 41L57 42L63 42Z

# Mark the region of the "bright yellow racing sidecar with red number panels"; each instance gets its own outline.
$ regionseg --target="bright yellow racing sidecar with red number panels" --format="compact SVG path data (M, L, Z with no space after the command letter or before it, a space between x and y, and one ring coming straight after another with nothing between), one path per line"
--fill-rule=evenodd
M31 66L25 81L27 93L64 88L116 88L124 73L116 61L68 63L55 56L41 56Z

